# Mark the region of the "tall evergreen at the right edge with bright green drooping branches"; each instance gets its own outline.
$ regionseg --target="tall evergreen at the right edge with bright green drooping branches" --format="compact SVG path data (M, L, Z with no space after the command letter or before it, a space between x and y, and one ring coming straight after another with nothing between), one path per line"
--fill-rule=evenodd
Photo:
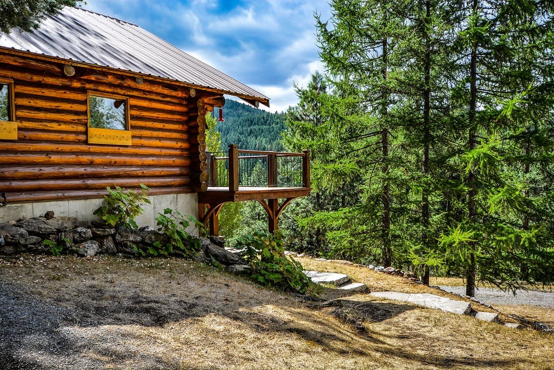
M457 158L467 214L444 240L462 246L469 296L475 294L477 271L481 281L514 289L522 280L552 280L552 240L545 233L551 197L531 198L527 182L533 162L551 158L543 129L552 119L553 7L543 1L471 0L463 8L454 91L467 112L460 126L468 140ZM535 153L533 138L541 140ZM543 185L551 183L548 177Z

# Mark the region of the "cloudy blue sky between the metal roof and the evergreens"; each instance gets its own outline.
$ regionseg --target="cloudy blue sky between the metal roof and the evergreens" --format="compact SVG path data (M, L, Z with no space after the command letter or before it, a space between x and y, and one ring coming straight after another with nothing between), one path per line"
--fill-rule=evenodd
M270 97L271 111L296 104L322 71L314 12L327 0L86 0L81 7L128 20ZM261 106L261 105L260 105Z

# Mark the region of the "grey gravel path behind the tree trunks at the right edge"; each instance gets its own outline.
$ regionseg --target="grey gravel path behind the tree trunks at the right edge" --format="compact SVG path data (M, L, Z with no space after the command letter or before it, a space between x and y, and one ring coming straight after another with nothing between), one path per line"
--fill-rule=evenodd
M441 289L455 294L465 294L465 286L441 286ZM532 305L554 307L554 291L544 292L537 290L512 292L500 289L480 287L475 290L475 299L490 305Z

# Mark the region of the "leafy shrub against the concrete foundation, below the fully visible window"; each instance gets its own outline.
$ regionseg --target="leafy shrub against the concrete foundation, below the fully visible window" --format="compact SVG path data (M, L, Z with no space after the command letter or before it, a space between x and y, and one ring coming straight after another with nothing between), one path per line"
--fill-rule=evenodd
M122 189L119 186L116 186L115 190L107 187L109 194L104 196L106 205L96 209L94 214L100 216L106 224L116 228L138 228L135 217L144 212L141 205L151 204L150 199L146 197L146 191L150 189L145 184L140 184L140 187L141 193Z

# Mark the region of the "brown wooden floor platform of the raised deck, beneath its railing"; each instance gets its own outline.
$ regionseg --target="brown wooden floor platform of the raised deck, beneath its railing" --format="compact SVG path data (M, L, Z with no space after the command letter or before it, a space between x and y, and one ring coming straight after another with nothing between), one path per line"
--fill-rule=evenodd
M198 203L213 204L219 202L253 201L257 199L279 199L305 197L311 188L281 188L281 187L239 187L237 191L229 191L228 187L208 187L205 192L198 193Z

